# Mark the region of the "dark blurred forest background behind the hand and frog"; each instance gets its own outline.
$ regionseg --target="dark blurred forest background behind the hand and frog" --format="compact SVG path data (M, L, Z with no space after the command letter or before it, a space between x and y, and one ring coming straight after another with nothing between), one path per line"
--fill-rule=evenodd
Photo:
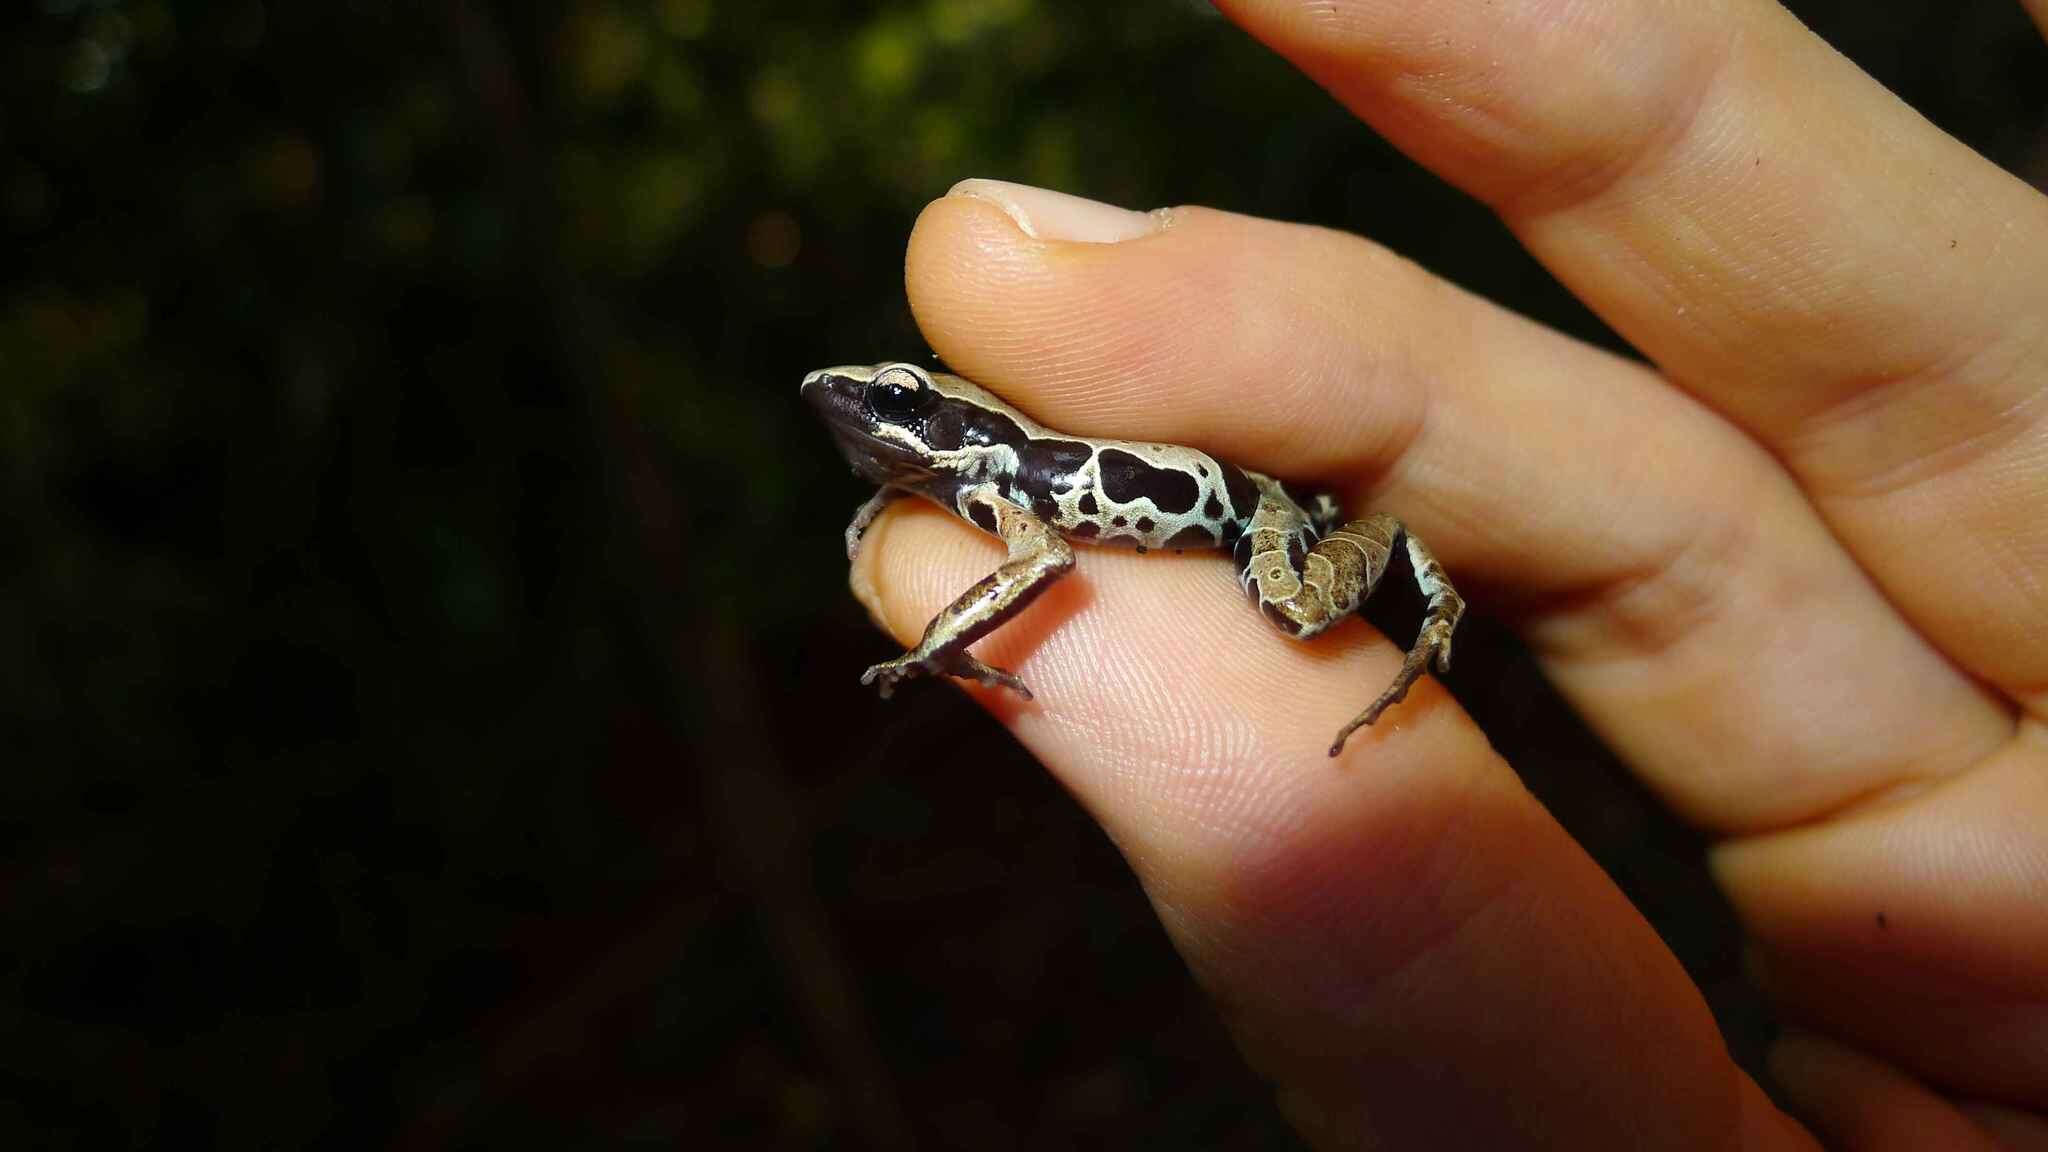
M2017 4L1794 8L2048 170ZM795 385L924 353L903 238L969 174L1612 344L1487 213L1188 0L8 10L0 1138L1296 1146L1057 785L856 685ZM1452 689L1753 1062L1698 840L1468 627Z

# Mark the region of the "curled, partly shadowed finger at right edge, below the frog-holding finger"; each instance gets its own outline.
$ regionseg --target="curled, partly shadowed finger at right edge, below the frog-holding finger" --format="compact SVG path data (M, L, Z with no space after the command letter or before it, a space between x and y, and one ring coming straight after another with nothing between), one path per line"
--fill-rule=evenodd
M2048 734L1714 871L1802 1021L1929 1084L2048 1109ZM1874 1011L1880 1006L1882 1011Z

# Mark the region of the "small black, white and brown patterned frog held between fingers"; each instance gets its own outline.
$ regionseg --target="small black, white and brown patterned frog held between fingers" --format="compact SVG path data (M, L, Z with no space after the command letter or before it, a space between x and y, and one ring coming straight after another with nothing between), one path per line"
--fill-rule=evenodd
M1014 674L967 646L1024 611L1073 568L1067 541L1231 549L1239 584L1280 631L1307 640L1372 594L1397 543L1430 601L1395 683L1329 744L1329 754L1436 662L1450 668L1450 633L1464 601L1430 547L1378 512L1341 521L1329 496L1296 498L1278 480L1178 445L1055 433L956 375L909 363L819 369L803 379L854 471L881 490L846 527L846 558L891 500L924 496L997 535L1010 558L932 617L924 640L860 676L889 695L909 676L965 676L1030 699Z

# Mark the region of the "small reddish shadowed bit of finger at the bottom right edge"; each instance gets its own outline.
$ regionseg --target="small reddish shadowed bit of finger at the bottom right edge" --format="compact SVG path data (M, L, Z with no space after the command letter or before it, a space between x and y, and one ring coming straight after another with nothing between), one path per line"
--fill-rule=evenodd
M1817 1035L1786 1035L1772 1076L1792 1109L1841 1152L1999 1152L1956 1105L1911 1076Z

